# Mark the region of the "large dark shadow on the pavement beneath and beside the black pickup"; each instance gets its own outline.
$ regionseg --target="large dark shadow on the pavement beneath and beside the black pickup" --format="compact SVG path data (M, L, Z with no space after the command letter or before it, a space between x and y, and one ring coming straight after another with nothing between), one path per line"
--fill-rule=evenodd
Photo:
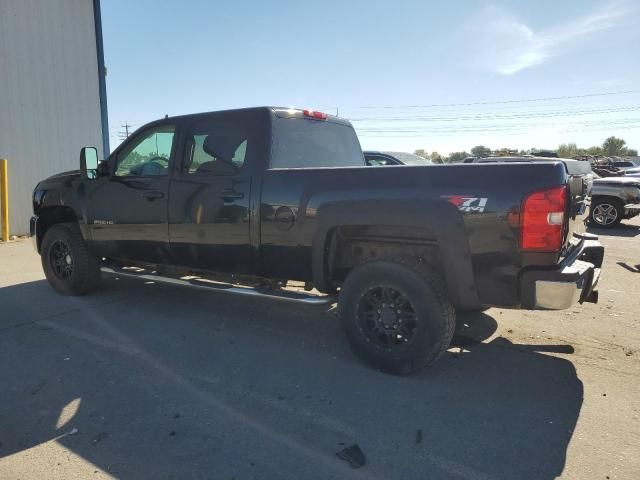
M53 441L118 478L551 479L582 406L571 362L487 342L486 314L394 377L355 358L331 311L125 280L0 302L3 461ZM353 443L359 470L335 456Z

